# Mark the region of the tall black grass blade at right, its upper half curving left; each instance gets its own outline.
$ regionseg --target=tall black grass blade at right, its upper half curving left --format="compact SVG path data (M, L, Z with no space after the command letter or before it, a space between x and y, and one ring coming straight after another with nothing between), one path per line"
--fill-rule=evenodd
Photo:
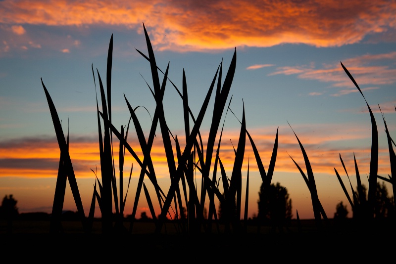
M363 96L364 101L366 102L367 108L370 112L370 119L371 119L371 157L370 157L370 178L368 183L368 211L367 211L367 218L373 219L374 218L374 204L375 204L375 194L377 189L377 174L378 174L378 131L377 131L377 124L375 122L375 118L373 112L371 111L370 106L367 103L366 98L364 97L361 89L357 85L356 81L353 79L352 75L349 73L347 68L341 62L341 66L343 67L344 71L347 73L347 76L355 85L355 87L359 90L360 94Z

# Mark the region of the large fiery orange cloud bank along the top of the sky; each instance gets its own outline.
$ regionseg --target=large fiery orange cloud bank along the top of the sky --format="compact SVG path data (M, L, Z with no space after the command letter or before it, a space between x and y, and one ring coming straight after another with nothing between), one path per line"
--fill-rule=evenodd
M360 42L396 28L394 1L0 1L0 23L50 26L145 22L159 49L207 50L302 43L318 47ZM386 35L386 34L385 34Z

